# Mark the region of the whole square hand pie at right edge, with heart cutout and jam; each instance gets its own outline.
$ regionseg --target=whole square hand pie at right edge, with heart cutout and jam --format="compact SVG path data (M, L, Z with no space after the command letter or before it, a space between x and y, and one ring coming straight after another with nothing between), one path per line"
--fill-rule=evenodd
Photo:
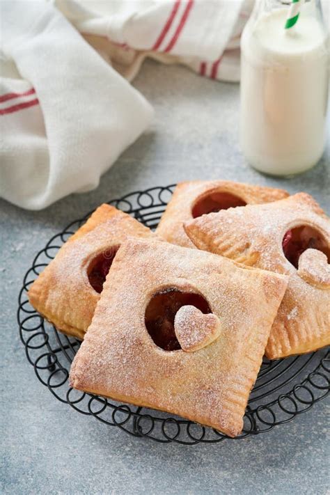
M330 343L330 220L308 194L212 213L185 225L199 249L290 276L266 356Z

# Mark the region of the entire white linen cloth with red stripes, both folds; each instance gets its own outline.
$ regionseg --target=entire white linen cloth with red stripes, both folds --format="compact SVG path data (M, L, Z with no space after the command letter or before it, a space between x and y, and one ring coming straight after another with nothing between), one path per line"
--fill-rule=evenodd
M39 210L97 187L148 127L152 108L125 80L146 56L236 81L251 0L3 0L0 8L0 196Z

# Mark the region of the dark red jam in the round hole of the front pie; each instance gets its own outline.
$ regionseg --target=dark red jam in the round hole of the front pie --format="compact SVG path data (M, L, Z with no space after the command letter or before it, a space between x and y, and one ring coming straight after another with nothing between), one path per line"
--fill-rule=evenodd
M196 306L202 313L212 313L200 294L169 289L155 294L146 308L146 328L158 347L166 351L181 349L175 336L174 318L181 306Z

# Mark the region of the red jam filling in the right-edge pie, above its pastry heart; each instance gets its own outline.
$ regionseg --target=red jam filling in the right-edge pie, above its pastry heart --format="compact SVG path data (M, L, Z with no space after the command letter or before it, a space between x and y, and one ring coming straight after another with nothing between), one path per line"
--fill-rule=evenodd
M312 227L292 228L285 233L282 241L283 253L291 265L298 268L299 258L306 249L318 249L330 258L330 251L322 235Z

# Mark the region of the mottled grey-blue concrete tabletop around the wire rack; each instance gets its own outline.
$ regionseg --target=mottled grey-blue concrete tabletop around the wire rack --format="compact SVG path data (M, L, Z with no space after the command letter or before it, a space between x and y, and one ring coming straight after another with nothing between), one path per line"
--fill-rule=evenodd
M42 212L0 201L0 492L329 493L329 401L255 438L164 446L131 438L61 404L26 361L15 320L22 276L49 237L102 201L178 180L226 178L308 191L330 210L329 147L313 171L291 180L267 178L246 164L237 138L238 86L154 62L144 64L134 84L155 106L155 123L97 190Z

